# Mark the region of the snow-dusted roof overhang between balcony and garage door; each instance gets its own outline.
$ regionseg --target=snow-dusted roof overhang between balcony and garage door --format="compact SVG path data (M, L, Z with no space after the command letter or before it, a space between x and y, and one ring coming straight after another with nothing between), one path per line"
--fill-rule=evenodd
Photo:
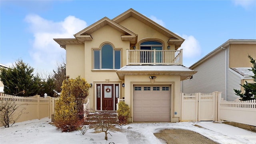
M116 70L116 74L120 80L124 80L126 75L179 75L180 80L185 80L196 71L190 70L185 66L124 66L119 70Z

